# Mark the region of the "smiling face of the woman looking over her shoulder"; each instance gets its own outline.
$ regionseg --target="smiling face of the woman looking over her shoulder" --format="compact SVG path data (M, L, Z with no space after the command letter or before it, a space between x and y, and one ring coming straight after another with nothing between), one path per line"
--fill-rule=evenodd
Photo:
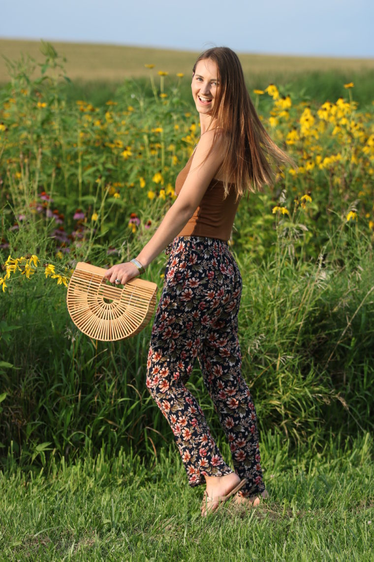
M211 58L198 61L195 74L192 76L191 88L197 111L200 114L210 115L220 89L218 68Z

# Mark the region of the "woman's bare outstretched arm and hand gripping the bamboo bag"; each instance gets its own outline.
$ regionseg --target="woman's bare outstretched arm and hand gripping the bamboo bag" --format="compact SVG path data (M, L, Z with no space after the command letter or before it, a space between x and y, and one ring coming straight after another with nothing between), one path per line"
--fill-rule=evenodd
M202 135L193 155L190 171L176 201L165 214L153 237L136 256L136 259L140 261L144 268L181 232L183 226L187 224L196 211L208 185L222 164L224 157L223 138L220 134L217 135L214 144L213 138L213 130L209 130ZM121 279L121 283L124 284L136 277L138 273L135 265L126 262L113 265L105 273L105 277L109 279L110 283L114 283L116 279Z

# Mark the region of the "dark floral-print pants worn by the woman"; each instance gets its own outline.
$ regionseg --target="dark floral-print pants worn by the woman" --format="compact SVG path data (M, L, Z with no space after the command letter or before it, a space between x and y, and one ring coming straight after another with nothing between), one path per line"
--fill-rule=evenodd
M173 430L190 486L205 483L204 475L232 473L185 386L197 359L228 438L235 472L248 481L241 494L262 492L256 410L241 374L242 279L236 261L228 244L215 238L176 237L166 253L147 388Z

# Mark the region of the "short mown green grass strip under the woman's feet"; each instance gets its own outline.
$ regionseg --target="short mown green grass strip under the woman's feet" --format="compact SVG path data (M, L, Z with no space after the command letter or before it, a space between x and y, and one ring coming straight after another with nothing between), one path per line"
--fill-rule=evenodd
M269 500L223 506L201 519L202 488L187 486L175 446L156 462L101 452L66 465L52 458L0 473L1 560L373 560L373 441L322 450L261 443ZM224 450L228 455L228 450Z

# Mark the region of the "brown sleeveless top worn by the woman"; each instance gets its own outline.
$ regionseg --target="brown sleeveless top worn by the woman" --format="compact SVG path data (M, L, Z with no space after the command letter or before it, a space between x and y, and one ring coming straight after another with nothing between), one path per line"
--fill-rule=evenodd
M192 155L193 156L193 155ZM181 170L176 179L176 194L182 189L190 171L192 156L186 166ZM208 185L204 196L186 226L178 236L204 236L207 238L220 238L228 241L234 224L239 200L236 202L234 184L229 184L230 191L226 199L221 180L213 178Z

